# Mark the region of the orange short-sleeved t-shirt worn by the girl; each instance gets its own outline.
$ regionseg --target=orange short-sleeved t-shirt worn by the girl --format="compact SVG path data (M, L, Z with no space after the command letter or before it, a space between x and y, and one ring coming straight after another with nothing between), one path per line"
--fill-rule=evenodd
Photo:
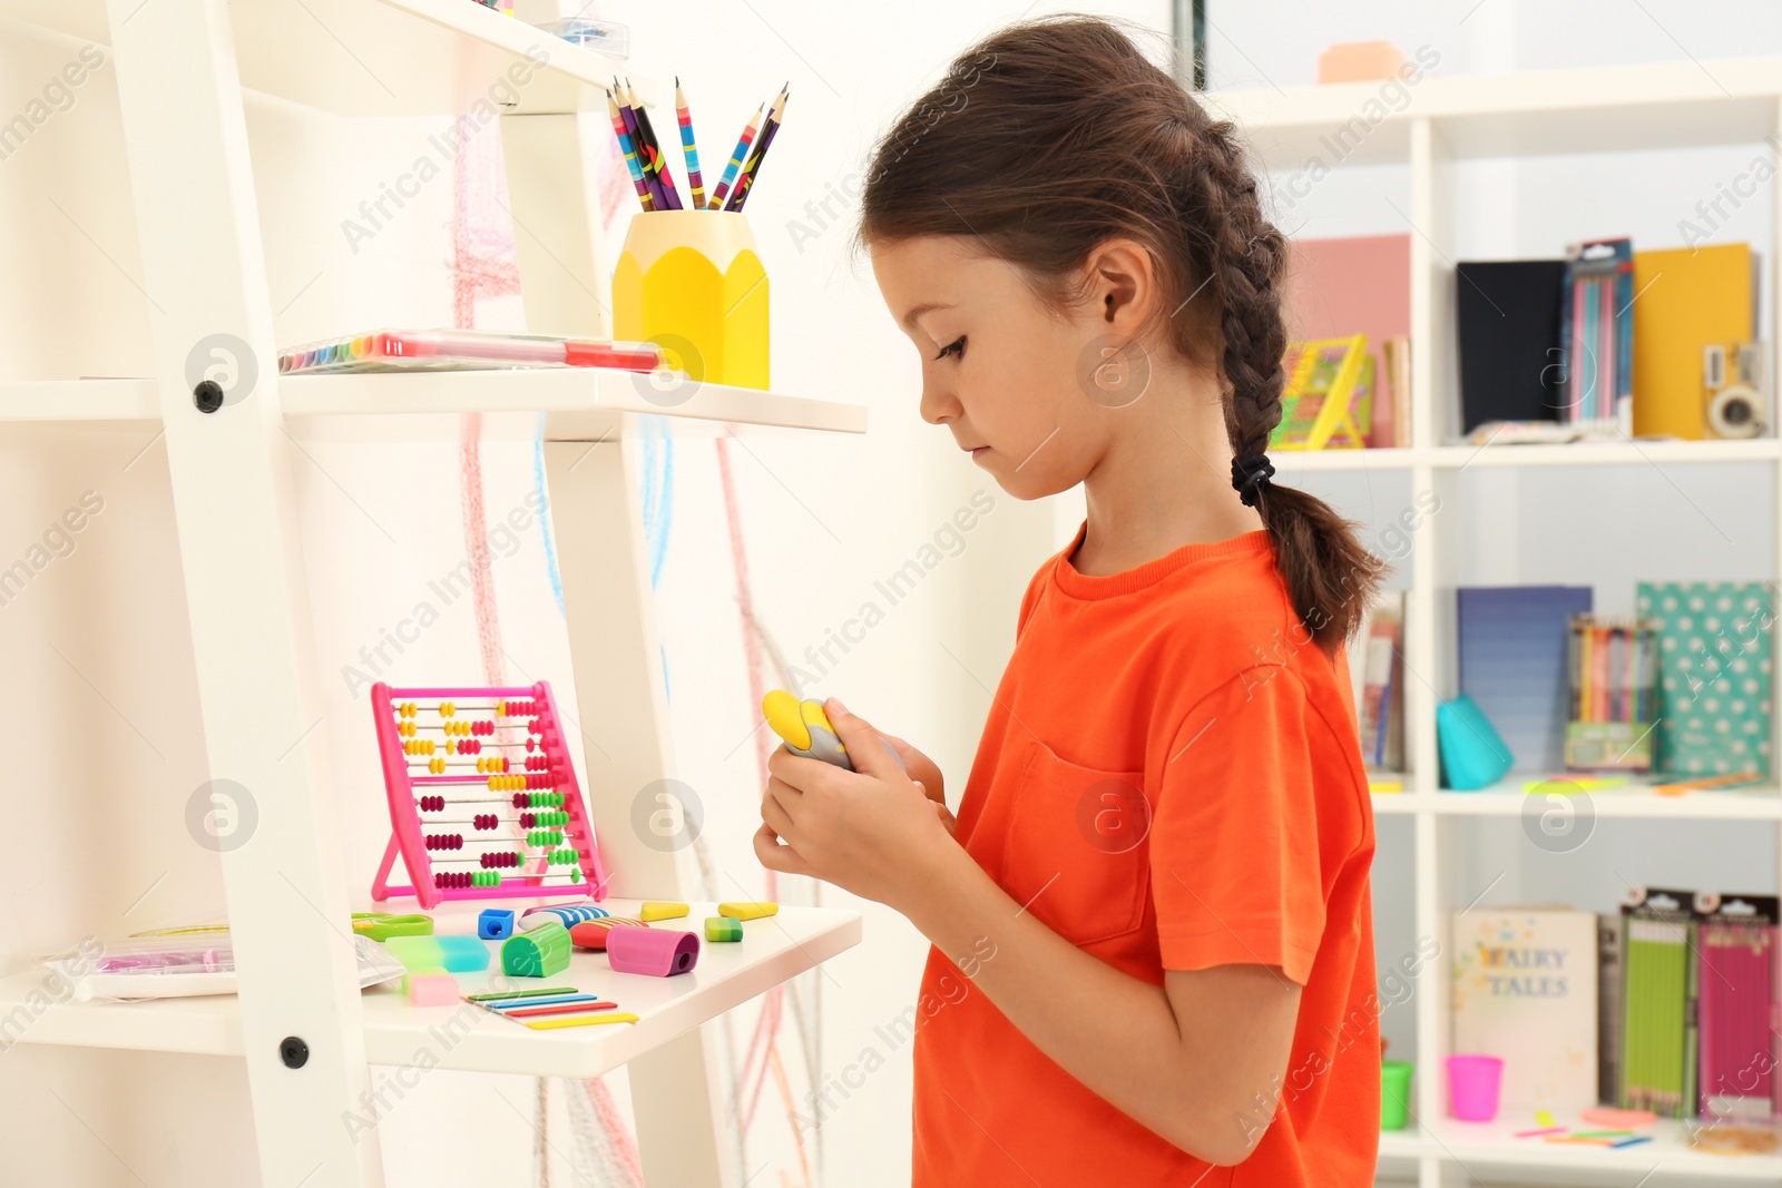
M1372 1184L1374 814L1342 652L1310 641L1263 531L1085 577L1067 557L1087 527L1021 598L957 837L1041 923L1133 978L1267 964L1301 983L1279 1110L1249 1160L1210 1172L930 948L912 1184ZM1263 1122L1253 1104L1230 1124Z

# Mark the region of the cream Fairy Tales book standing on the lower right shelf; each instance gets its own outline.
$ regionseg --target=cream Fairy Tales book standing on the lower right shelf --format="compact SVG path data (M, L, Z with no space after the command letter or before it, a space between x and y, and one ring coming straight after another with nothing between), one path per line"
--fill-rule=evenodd
M1597 1104L1597 915L1454 912L1452 1046L1504 1058L1508 1110Z

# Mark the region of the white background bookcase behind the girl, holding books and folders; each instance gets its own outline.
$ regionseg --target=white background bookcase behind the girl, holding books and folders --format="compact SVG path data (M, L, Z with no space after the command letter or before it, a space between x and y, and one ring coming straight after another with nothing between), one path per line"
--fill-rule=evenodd
M1782 467L1782 442L1614 442L1575 445L1440 445L1456 426L1454 226L1456 176L1463 160L1547 157L1566 153L1675 150L1704 144L1762 146L1782 167L1782 59L1679 61L1606 69L1549 71L1508 77L1424 77L1401 110L1379 103L1377 82L1221 91L1206 107L1238 123L1260 164L1285 175L1312 157L1328 167L1410 166L1411 242L1413 443L1410 449L1281 454L1281 479L1301 474L1402 474L1415 499L1435 492L1443 506L1461 499L1461 476L1486 467L1638 465L1661 472L1716 463ZM1369 105L1370 102L1372 107ZM1376 118L1376 114L1379 118ZM1360 123L1356 123L1360 121ZM1344 153L1333 153L1342 144ZM1333 162L1331 159L1336 157ZM1711 180L1709 180L1711 182ZM1771 189L1771 244L1782 244L1782 201ZM1554 244L1557 249L1557 244ZM1766 324L1757 330L1782 342L1782 301L1777 283L1762 297ZM1775 490L1782 490L1782 474ZM1657 481L1657 479L1655 479ZM1782 533L1782 515L1768 509ZM1782 1158L1725 1158L1691 1151L1677 1127L1659 1127L1657 1140L1609 1151L1563 1147L1509 1136L1509 1126L1475 1126L1447 1119L1442 1058L1449 1053L1449 917L1468 907L1477 887L1452 878L1468 823L1524 810L1522 780L1481 793L1436 787L1436 700L1456 689L1454 588L1458 543L1454 517L1431 517L1417 531L1411 586L1406 598L1404 663L1418 679L1406 680L1408 771L1402 793L1377 793L1379 818L1410 818L1417 937L1438 939L1442 956L1417 976L1417 1122L1381 1136L1383 1168L1415 1168L1422 1188L1472 1183L1602 1183L1693 1184L1702 1181L1782 1183ZM1782 557L1778 540L1777 557ZM1686 575L1679 575L1686 577ZM1768 575L1775 581L1775 574ZM1782 739L1782 718L1771 721ZM1597 818L1714 821L1748 830L1766 823L1782 846L1782 789L1657 796L1650 791L1591 794ZM1399 826L1401 832L1402 826ZM1388 857L1383 839L1381 855ZM1737 871L1729 871L1732 880ZM1739 887L1761 891L1759 887ZM1495 896L1495 901L1504 901ZM1381 944L1383 956L1386 955Z

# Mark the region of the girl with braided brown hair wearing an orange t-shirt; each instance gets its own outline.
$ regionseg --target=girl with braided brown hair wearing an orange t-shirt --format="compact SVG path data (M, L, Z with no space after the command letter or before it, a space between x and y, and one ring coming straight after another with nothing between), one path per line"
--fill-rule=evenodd
M1101 20L1018 25L877 148L859 237L923 419L1089 509L1021 600L957 826L936 764L834 700L857 771L768 764L761 862L934 942L916 1188L1372 1184L1344 641L1383 563L1272 483L1287 242L1231 125Z

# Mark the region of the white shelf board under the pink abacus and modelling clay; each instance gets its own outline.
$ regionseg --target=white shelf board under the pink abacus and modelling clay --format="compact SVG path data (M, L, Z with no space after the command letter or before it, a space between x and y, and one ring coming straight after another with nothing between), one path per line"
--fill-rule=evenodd
M606 903L615 915L633 915L636 905L636 899ZM474 933L476 914L486 907L492 905L447 903L431 915L440 933ZM397 903L392 910L405 908ZM691 972L674 978L615 974L602 953L576 949L567 972L538 983L574 985L601 994L620 1010L636 1013L638 1022L533 1031L467 1003L410 1006L397 983L388 983L362 994L365 1054L371 1063L380 1065L415 1065L417 1053L428 1053L428 1060L442 1069L599 1076L814 969L861 940L859 912L841 908L782 905L779 915L743 921L743 939L729 944L704 940L707 915L716 915L716 905L693 903L684 921L652 924L700 933L699 965ZM492 969L499 971L499 942L492 940L488 948ZM43 992L45 976L46 971L39 967L0 980L0 1017L16 1017L20 1010L32 1015L32 1022L18 1035L9 1029L9 1038L77 1047L242 1054L241 1001L233 994L146 1003L62 1003L36 1015L27 997ZM460 978L465 994L486 981L486 972ZM517 989L526 989L526 980L513 981ZM446 1029L449 1021L456 1021L451 1031ZM456 1042L442 1040L446 1035L454 1035Z

